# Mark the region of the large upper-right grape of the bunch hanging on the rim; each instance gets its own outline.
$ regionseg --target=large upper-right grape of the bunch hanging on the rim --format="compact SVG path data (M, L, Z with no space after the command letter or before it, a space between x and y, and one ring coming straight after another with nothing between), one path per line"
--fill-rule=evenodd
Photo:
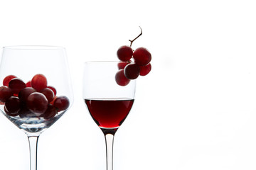
M146 48L139 47L134 51L134 62L138 64L139 66L144 66L146 64L149 64L151 61L151 54Z

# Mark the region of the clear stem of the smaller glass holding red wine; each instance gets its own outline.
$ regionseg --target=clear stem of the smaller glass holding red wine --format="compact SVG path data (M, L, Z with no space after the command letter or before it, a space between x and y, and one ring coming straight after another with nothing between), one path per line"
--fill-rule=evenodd
M106 154L107 154L107 170L113 170L113 143L114 143L114 135L113 134L105 134L106 141Z

